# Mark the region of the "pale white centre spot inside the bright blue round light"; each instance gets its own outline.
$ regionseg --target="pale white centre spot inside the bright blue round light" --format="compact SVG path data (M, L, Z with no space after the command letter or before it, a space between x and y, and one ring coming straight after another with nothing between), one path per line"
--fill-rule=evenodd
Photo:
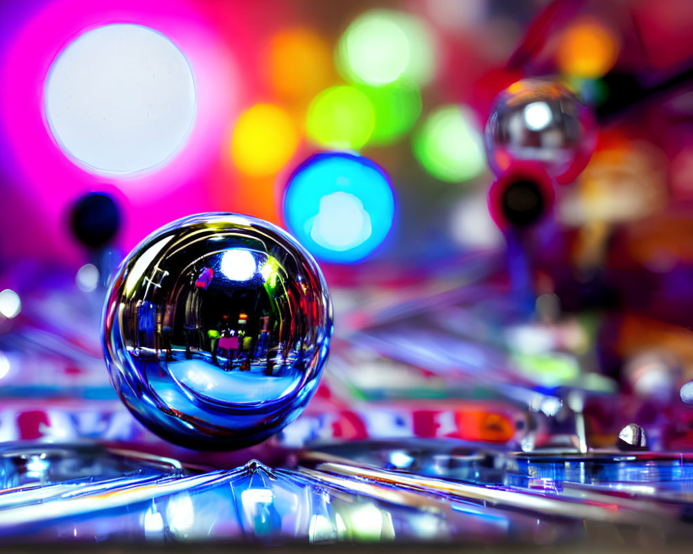
M360 199L338 192L320 199L310 238L321 247L341 252L363 244L371 231L371 216Z

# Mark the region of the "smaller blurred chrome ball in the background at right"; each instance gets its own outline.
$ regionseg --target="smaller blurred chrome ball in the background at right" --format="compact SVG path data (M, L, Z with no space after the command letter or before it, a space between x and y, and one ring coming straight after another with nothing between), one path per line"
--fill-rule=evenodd
M494 100L485 143L500 175L518 161L542 163L561 184L584 170L596 145L597 124L588 107L559 82L523 79Z

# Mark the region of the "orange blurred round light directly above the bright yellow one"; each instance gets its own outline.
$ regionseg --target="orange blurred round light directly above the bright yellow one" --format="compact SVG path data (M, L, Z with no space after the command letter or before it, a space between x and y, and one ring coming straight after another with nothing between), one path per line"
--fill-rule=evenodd
M304 27L274 35L262 67L274 93L290 100L312 97L333 76L330 46L315 31Z

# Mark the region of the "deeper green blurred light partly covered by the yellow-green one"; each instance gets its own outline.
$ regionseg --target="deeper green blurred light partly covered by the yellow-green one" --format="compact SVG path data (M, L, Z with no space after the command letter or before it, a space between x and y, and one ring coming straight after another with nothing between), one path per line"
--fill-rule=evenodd
M421 115L421 91L414 82L394 82L383 87L363 85L359 90L368 97L375 114L369 145L395 143Z

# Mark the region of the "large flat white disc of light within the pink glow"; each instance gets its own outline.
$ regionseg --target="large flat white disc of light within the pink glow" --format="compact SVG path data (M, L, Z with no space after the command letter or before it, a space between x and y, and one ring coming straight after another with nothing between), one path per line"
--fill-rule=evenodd
M182 146L195 119L185 56L140 25L87 31L51 65L46 119L60 148L92 172L132 174Z

